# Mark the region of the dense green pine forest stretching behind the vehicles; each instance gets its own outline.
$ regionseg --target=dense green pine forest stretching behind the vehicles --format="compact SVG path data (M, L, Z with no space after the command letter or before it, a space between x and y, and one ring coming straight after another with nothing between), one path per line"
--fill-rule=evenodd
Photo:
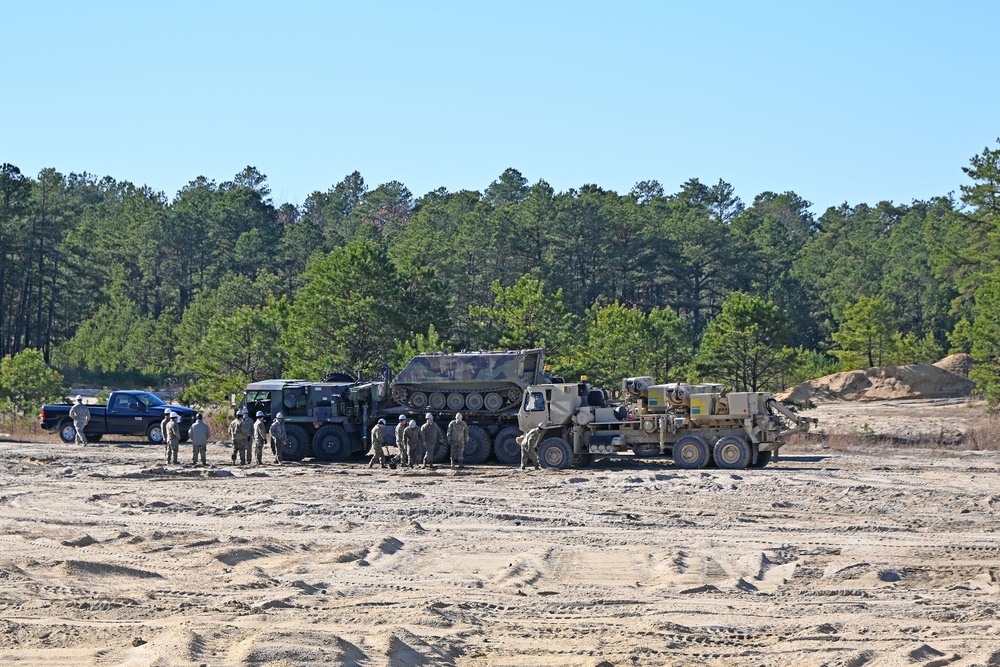
M794 192L743 202L721 180L556 192L507 169L415 197L355 172L297 207L253 167L168 197L4 164L0 391L22 409L69 384L208 403L267 377L535 346L609 387L774 389L961 351L996 403L998 165L986 148L958 193L817 216Z

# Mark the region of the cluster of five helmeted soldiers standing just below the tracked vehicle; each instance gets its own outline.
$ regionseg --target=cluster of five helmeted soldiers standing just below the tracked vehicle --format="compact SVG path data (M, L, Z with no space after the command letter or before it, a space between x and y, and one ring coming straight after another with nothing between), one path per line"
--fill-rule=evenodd
M381 467L388 467L386 459L385 419L379 419L371 431L371 461L368 467L373 467L378 463ZM396 425L396 464L403 468L413 468L416 462L421 462L422 468L433 468L434 459L438 444L446 445L451 454L451 467L465 467L465 447L469 444L469 426L462 419L462 413L455 415L455 418L448 424L446 433L441 433L441 427L434 423L434 415L427 413L424 415L423 426L417 426L416 419L407 419L406 415L399 415L399 423Z

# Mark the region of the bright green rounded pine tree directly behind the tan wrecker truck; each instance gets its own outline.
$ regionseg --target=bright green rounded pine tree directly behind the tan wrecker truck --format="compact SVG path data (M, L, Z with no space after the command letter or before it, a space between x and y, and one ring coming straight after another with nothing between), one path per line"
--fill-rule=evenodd
M759 391L788 367L791 354L787 318L770 301L735 292L708 325L698 351L707 379L737 391Z

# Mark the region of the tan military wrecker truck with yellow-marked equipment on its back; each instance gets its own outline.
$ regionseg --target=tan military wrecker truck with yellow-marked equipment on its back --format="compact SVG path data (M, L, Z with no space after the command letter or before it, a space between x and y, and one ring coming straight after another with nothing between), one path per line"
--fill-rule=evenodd
M587 465L595 455L668 456L679 468L762 468L789 435L816 420L767 392L726 392L721 384L622 380L624 399L610 405L585 382L527 388L518 411L525 433L545 423L538 447L548 468Z

